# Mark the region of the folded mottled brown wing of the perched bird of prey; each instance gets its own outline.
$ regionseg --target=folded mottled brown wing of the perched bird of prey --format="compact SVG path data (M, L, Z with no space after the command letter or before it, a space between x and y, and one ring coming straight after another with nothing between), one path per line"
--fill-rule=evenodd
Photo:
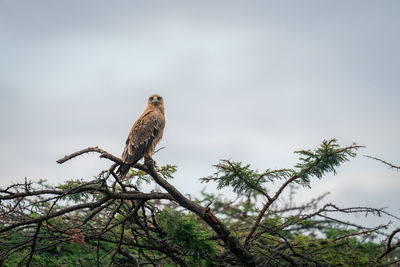
M148 111L135 122L122 153L124 163L136 163L144 156L161 130L161 120L157 112Z

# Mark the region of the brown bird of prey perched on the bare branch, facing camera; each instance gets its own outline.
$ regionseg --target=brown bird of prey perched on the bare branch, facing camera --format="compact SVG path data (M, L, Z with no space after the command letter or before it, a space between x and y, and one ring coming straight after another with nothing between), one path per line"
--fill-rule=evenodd
M125 149L122 153L122 164L117 170L120 179L123 179L129 169L144 157L153 161L155 147L160 142L164 127L164 99L157 94L149 97L147 108L133 124Z

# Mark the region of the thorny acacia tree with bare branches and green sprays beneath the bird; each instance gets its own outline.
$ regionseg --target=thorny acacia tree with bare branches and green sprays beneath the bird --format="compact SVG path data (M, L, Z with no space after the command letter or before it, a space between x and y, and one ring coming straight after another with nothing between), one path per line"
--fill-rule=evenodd
M122 162L98 147L67 155L62 164L96 152L112 164L93 180L13 184L0 190L0 266L377 266L399 261L394 231L335 218L337 213L390 216L384 209L322 205L325 195L296 205L281 201L294 186L310 186L358 145L324 141L296 153L293 168L258 172L221 160L202 178L229 187L234 200L202 192L191 199L170 182L176 166L136 163L120 180ZM161 190L143 192L143 181ZM279 183L276 191L268 190ZM282 204L282 202L284 204ZM384 243L374 242L377 237ZM397 242L397 243L395 243ZM388 244L388 245L385 245Z

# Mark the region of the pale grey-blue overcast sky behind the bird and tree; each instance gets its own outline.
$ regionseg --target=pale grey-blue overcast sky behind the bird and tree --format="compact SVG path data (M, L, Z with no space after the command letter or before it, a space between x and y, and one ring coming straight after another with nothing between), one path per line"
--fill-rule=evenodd
M56 160L119 156L159 93L154 158L178 165L182 192L198 195L219 159L288 168L334 137L367 148L296 200L329 191L399 215L400 173L362 156L400 164L399 14L389 0L0 0L0 185L91 179L110 162Z

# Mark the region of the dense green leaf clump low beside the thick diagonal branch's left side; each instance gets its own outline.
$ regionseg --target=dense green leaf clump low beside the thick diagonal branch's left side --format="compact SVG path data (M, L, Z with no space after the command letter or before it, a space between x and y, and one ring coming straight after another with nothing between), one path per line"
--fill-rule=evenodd
M193 216L184 215L173 209L165 209L159 214L160 226L167 235L192 256L191 263L204 266L215 255L215 245L209 241L209 234L200 229ZM200 264L201 262L201 264Z

